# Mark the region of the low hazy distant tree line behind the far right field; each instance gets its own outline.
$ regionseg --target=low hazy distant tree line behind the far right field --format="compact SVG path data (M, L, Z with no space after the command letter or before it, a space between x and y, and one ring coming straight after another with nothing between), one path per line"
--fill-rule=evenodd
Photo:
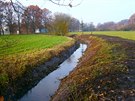
M131 31L135 30L135 14L129 19L124 19L119 22L99 23L95 26L93 23L84 23L83 31Z

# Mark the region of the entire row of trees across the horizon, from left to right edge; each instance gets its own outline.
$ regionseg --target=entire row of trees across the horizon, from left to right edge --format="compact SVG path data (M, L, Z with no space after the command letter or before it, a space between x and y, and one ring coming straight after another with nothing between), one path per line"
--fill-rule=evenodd
M12 1L12 0L11 0ZM24 7L19 2L0 1L0 35L5 28L10 34L30 34L50 32L57 35L65 35L69 31L113 31L135 30L135 14L129 19L120 22L105 22L95 26L92 22L83 23L78 19L64 13L55 13L47 9L41 9L37 5Z

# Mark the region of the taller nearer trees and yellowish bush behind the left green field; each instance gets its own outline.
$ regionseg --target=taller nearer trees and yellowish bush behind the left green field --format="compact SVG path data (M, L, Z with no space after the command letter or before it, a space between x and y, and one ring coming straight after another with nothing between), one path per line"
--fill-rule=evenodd
M8 27L10 34L51 32L65 35L69 31L79 31L78 19L64 13L55 13L47 9L41 9L37 5L23 7L19 3L0 1L0 35L4 34L4 28Z

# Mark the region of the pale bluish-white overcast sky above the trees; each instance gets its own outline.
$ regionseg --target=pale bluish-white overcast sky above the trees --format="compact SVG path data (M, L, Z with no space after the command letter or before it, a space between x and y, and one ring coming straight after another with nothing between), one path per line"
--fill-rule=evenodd
M80 2L81 0L74 1ZM20 2L26 6L33 4L48 8L52 12L64 12L79 20L94 24L108 21L118 22L128 19L135 13L135 0L83 0L81 5L73 8L58 6L48 0L21 0Z

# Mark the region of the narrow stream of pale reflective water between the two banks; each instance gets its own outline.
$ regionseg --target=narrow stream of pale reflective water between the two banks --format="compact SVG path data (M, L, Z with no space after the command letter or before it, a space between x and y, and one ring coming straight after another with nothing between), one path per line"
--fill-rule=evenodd
M58 89L60 79L67 76L76 67L79 58L86 48L86 44L80 44L80 47L68 59L61 63L58 69L44 77L18 101L49 101Z

